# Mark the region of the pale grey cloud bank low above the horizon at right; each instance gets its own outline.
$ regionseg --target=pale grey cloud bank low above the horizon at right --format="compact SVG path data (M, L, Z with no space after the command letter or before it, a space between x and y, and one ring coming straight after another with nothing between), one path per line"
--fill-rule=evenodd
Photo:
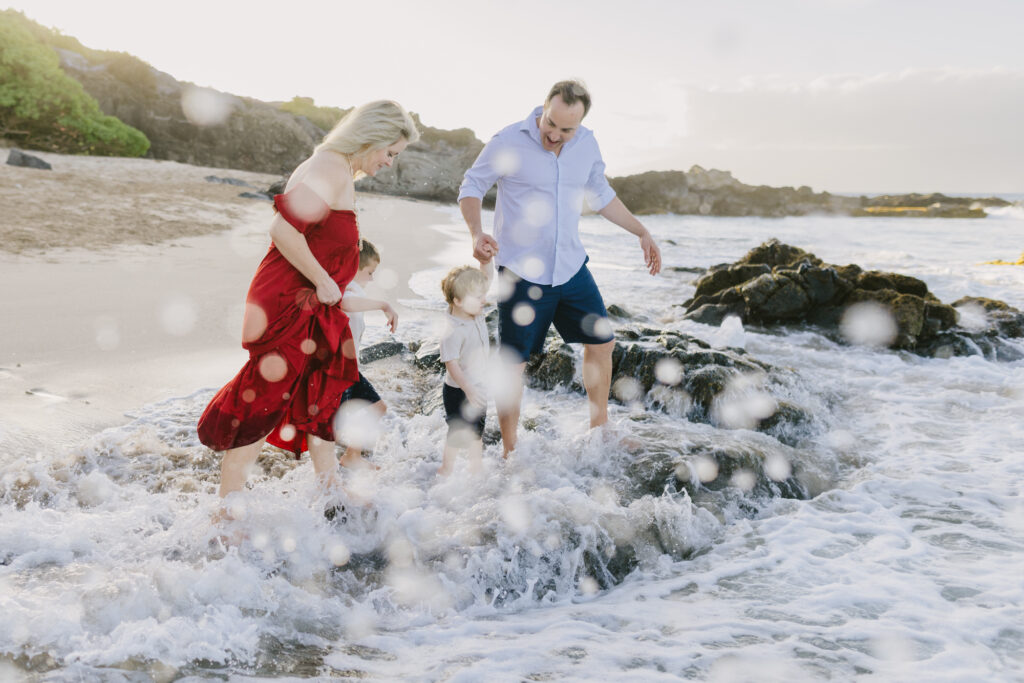
M930 69L685 88L684 136L658 168L834 190L1019 191L1024 70Z

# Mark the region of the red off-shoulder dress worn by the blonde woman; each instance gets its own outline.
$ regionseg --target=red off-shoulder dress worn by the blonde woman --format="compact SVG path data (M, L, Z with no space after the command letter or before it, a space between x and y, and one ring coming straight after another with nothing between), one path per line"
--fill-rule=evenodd
M273 203L344 291L359 266L355 214L330 209L304 184ZM200 441L226 451L267 436L298 456L307 434L334 440L341 394L359 379L348 316L321 303L312 283L272 244L249 287L242 346L249 361L207 405Z

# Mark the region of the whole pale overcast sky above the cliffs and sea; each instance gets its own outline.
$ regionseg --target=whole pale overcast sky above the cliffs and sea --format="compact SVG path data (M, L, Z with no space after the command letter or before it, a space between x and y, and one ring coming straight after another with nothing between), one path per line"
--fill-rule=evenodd
M1021 0L23 0L97 49L265 100L397 99L486 140L583 78L609 175L1024 193Z

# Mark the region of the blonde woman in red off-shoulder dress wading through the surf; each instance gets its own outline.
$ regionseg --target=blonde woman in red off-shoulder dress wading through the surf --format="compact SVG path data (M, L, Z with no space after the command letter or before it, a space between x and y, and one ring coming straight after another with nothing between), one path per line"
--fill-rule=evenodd
M391 166L418 138L397 102L358 106L273 198L273 243L246 297L242 345L249 361L213 397L198 426L204 444L225 452L221 498L242 488L264 441L296 455L308 447L322 482L338 483L333 422L341 394L359 376L339 304L359 263L354 179ZM366 310L369 301L344 307Z

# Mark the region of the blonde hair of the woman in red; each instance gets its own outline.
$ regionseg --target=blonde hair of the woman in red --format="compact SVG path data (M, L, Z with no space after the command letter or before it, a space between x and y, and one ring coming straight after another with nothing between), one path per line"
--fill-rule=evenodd
M394 144L401 138L410 144L420 139L413 117L398 102L378 99L346 114L316 145L316 151L355 157Z

